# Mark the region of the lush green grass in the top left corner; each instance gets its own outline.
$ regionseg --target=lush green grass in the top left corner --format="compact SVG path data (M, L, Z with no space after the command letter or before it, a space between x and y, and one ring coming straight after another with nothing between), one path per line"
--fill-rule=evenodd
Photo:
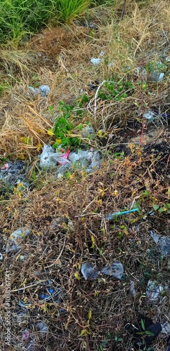
M82 14L90 0L1 0L0 43L15 46L24 34L59 22L71 22Z

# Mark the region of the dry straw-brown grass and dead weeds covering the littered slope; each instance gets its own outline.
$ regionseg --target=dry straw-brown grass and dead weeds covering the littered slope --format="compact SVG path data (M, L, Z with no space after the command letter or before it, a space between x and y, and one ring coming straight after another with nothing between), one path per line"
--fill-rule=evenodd
M27 52L33 56L25 55L21 48L15 55L11 53L9 57L9 52L4 51L0 57L1 74L6 77L6 67L13 58L12 73L17 79L11 91L1 97L0 155L13 154L14 158L29 160L33 166L43 143L52 143L47 133L54 119L48 110L50 105L57 113L59 100L72 103L80 96L80 89L91 81L102 82L116 76L134 84L134 91L121 102L101 102L97 95L88 93L85 121L91 121L96 131L102 128L111 138L105 146L99 138L96 140L102 157L99 171L91 176L75 171L62 180L56 180L48 172L39 172L36 181L30 180L31 190L24 190L21 197L13 192L0 201L1 248L6 246L13 230L31 226L31 234L24 240L22 249L16 254L4 254L1 265L3 282L5 271L12 272L10 350L26 350L22 331L27 328L34 333L37 351L97 351L108 338L108 331L113 340L108 341L104 350L130 351L131 337L125 324L134 323L140 312L162 324L169 322L168 296L152 305L142 297L148 279L169 284L169 260L160 258L150 239L151 228L169 235L169 218L166 211L148 216L153 204L163 206L169 202L168 123L155 122L152 128L157 132L159 127L158 134L153 134L146 148L127 145L133 136L141 135L143 101L149 108L169 113L169 71L160 84L148 84L142 91L141 76L136 69L169 55L169 1L151 1L147 11L134 1L127 1L122 22L118 18L120 12L121 6L116 6L115 13L113 8L92 9L92 21L99 26L95 34L75 24L69 28L45 29L27 44ZM94 67L90 63L90 58L99 57L101 51L108 62L115 61L115 66L103 62ZM29 60L32 57L34 64ZM50 86L48 97L31 96L27 86L41 84ZM126 128L129 120L134 121L135 128ZM150 125L146 124L145 128L144 135L152 132ZM23 141L28 137L29 145ZM160 152L152 157L160 138ZM123 159L114 156L122 151ZM128 218L121 216L112 226L104 219L106 214L131 208L135 202L139 203L139 213ZM24 260L22 255L26 256ZM86 282L80 274L80 264L85 261L100 268L116 260L125 268L125 277L120 282L106 276ZM80 280L75 273L80 274ZM45 302L38 298L42 291L38 280L52 281L55 289L61 287L62 301ZM130 293L131 280L135 296ZM2 307L4 284L1 288ZM31 304L25 309L27 315L22 322L16 317L21 308L19 299ZM1 310L4 333L6 325ZM36 329L39 320L48 325L44 336ZM115 336L121 336L123 341L118 344ZM154 344L155 351L163 351L164 345L166 338L160 334ZM4 340L0 347L5 350Z

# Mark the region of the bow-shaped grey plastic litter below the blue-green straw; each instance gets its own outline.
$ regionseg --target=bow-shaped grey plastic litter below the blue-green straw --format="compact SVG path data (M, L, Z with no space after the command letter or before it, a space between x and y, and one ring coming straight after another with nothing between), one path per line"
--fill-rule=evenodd
M123 274L123 266L122 263L115 262L113 263L113 265L105 265L104 268L102 268L102 270L97 270L97 268L94 267L94 265L86 262L81 265L80 271L83 274L85 280L97 279L100 273L110 275L111 277L114 277L116 279L121 279Z

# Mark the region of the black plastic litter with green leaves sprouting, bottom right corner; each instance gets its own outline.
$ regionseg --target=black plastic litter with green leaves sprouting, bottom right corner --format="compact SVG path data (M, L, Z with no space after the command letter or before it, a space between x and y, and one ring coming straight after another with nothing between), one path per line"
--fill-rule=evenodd
M154 323L152 319L139 315L136 324L129 324L127 331L133 335L132 345L135 350L146 350L146 347L153 343L162 330L160 323Z

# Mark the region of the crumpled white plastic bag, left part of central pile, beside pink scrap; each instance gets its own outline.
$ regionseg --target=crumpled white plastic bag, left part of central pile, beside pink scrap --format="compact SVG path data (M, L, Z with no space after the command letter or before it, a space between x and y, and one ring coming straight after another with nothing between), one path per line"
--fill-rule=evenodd
M43 152L40 156L40 167L41 168L54 168L57 164L69 164L69 150L66 153L55 152L50 145L43 146Z

